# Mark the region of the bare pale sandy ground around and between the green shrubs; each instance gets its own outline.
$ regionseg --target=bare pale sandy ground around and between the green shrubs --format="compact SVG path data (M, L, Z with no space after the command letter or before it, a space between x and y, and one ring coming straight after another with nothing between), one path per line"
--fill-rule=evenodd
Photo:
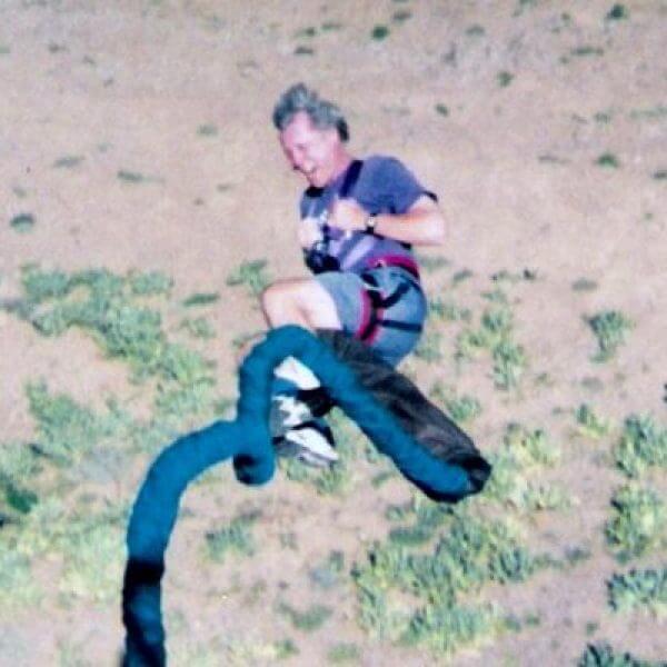
M270 125L278 94L302 80L339 101L355 153L400 157L439 193L449 235L445 247L425 253L472 278L454 292L450 272L429 273L429 293L454 293L464 303L500 270L537 276L512 292L517 335L530 377L546 372L550 384L528 381L507 397L479 374L456 380L485 405L472 428L482 450L510 420L563 435L557 408L585 400L618 420L637 411L664 419L667 181L656 175L667 169L667 2L626 7L628 19L610 21L611 3L600 1L3 1L0 297L19 293L27 262L161 270L173 277L178 298L219 291L208 351L221 387L233 392L231 340L263 322L242 292L225 285L230 269L266 258L273 277L306 275L295 237L301 183ZM397 21L397 10L411 16ZM326 22L340 28L298 34ZM371 39L377 24L390 27L387 39ZM511 76L506 86L504 72ZM202 135L202 126L217 132ZM596 163L605 153L617 168ZM82 160L54 168L66 156ZM122 170L149 180L123 182ZM27 212L36 225L17 233L9 221ZM579 278L597 288L573 290ZM611 364L594 365L584 317L605 309L626 313L635 328ZM126 387L126 370L77 334L43 339L0 312L0 349L4 441L32 436L23 390L30 379L46 375L54 389L93 404ZM417 380L450 380L445 372L425 368ZM590 377L597 392L585 381ZM589 640L588 621L623 648L667 656L664 624L604 610L603 583L616 566L600 526L619 478L577 442L564 446L570 459L559 476L580 504L565 519L540 519L536 536L587 541L597 555L565 580L542 574L502 591L508 604L537 609L539 628L455 664L574 664ZM289 626L267 611L273 597L317 601L303 575L308 564L331 548L358 552L361 540L384 536L384 504L409 497L397 480L379 491L356 488L344 500L318 498L283 478L259 491L235 486L225 471L219 480L213 500L192 496L195 517L179 526L169 552L167 607L187 619L181 637L191 646L216 634L280 637ZM128 484L130 498L135 488ZM267 547L247 567L226 564L211 583L198 578L190 545L212 517L233 516L226 501L261 505ZM298 554L277 546L288 529ZM259 601L246 599L250 593L220 593L232 589L255 590ZM368 666L432 664L428 653L368 639L351 614L351 594L340 595L345 613L299 637L300 654L289 664L323 664L322 647L335 640L358 643ZM117 607L42 611L29 624L0 619L11 638L4 649L13 647L6 661L0 640L0 663L56 664L67 640L90 664L113 664L122 638Z

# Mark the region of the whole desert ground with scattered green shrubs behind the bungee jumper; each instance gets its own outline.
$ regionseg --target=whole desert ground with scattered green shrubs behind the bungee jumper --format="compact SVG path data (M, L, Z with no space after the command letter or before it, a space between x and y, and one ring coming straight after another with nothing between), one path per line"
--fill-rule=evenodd
M341 412L331 471L211 469L167 552L169 664L664 664L665 0L0 17L0 664L118 665L148 466L233 419L261 289L307 276L270 120L299 81L439 195L400 370L494 477L437 506Z

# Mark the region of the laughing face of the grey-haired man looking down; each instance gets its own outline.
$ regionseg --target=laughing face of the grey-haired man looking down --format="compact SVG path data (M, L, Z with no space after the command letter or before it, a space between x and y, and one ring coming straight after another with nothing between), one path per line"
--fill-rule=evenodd
M331 180L339 142L336 128L316 128L306 111L296 113L280 132L280 146L292 169L316 188Z

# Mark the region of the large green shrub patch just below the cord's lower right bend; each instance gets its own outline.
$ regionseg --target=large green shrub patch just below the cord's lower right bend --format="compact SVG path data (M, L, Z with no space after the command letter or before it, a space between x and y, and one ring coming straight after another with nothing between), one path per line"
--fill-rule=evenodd
M410 517L412 526L394 528L352 569L360 623L374 636L437 653L477 645L502 627L492 606L472 604L482 587L548 565L507 521L425 500L389 510L392 520Z

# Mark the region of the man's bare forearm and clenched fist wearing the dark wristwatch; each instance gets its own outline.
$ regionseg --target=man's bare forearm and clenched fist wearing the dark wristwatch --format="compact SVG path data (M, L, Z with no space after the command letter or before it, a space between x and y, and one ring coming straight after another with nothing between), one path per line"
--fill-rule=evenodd
M350 231L366 229L368 212L354 199L339 199L329 212L329 225ZM440 246L446 238L446 221L440 207L422 195L405 213L379 213L375 232L416 246Z

